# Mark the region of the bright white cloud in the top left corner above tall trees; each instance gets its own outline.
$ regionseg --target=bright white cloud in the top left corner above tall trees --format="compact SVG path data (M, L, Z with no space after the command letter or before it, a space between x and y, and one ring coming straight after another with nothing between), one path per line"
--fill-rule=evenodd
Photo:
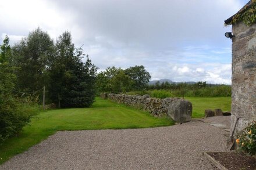
M37 27L47 31L53 38L67 29L74 32L79 30L73 24L73 15L59 9L50 1L47 3L43 0L4 1L0 5L0 16L0 32L15 35L16 37L13 37L15 40L17 37L26 36L29 31ZM72 27L67 27L69 25Z

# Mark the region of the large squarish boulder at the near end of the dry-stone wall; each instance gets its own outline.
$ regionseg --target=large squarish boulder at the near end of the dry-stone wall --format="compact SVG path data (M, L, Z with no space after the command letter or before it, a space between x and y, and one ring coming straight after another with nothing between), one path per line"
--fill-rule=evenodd
M189 122L192 115L192 103L174 98L173 102L169 104L167 114L176 122Z

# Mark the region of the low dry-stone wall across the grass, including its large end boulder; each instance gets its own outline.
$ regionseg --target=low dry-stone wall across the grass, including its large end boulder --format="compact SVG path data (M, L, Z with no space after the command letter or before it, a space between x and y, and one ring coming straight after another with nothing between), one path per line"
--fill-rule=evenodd
M168 115L177 122L191 121L192 104L180 98L151 98L149 95L119 95L113 93L101 94L104 99L111 99L113 102L124 103L129 106L143 108L155 117Z

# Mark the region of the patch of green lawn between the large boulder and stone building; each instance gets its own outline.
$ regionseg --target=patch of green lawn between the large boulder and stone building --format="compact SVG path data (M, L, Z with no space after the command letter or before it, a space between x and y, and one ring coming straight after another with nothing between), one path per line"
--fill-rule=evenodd
M222 111L231 110L231 97L185 97L193 106L193 118L204 117L204 111L209 108L221 108Z

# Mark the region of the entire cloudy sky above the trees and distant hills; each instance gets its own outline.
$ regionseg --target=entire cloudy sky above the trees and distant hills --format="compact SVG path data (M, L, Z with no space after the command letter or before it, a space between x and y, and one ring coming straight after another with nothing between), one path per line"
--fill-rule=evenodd
M232 26L246 0L0 0L0 41L15 44L40 27L70 31L104 71L143 65L151 80L231 84ZM0 43L2 44L2 43Z

